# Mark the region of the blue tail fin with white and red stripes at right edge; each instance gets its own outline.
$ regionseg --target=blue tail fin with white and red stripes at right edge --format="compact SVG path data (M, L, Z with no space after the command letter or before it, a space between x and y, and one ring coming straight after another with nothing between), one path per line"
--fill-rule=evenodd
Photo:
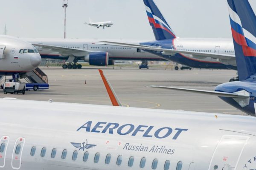
M248 0L227 0L239 80L256 74L256 16Z

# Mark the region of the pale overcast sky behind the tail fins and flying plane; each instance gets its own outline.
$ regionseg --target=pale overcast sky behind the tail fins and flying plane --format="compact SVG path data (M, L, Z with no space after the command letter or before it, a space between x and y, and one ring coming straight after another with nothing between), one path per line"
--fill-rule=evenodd
M249 0L256 11L256 0ZM226 0L155 0L178 37L231 38ZM0 34L63 38L63 0L2 0ZM113 21L111 28L85 25ZM143 0L69 0L67 38L153 40Z

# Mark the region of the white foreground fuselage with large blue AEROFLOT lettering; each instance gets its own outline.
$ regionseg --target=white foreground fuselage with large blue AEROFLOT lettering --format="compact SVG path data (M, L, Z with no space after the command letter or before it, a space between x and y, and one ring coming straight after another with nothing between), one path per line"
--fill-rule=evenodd
M182 170L256 168L255 117L10 99L0 103L0 145L5 143L0 170L174 170L181 162Z

